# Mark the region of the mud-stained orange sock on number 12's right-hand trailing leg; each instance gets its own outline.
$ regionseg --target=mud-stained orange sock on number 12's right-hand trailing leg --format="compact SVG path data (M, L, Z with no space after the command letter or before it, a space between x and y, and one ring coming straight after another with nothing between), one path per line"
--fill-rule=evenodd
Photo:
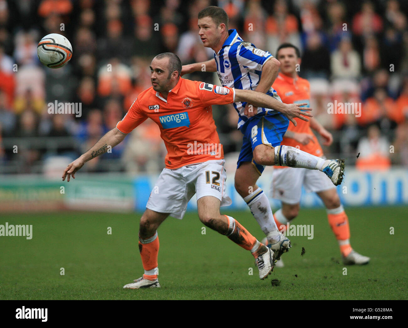
M261 244L254 236L252 236L251 233L249 233L249 231L246 230L237 220L228 215L226 215L226 218L228 220L228 231L226 236L229 239L247 251L251 251L255 258L258 257L259 253L265 253L264 251L267 249L262 248L264 245Z

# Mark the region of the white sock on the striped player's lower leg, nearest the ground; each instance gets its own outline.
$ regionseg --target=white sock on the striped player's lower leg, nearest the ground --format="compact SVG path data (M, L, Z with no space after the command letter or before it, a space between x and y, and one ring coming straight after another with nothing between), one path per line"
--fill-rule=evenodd
M256 189L254 192L244 197L246 204L251 209L251 213L257 220L259 227L264 231L265 235L269 233L279 234L279 230L276 226L275 220L273 220L273 214L271 205L269 205L268 197L261 188Z

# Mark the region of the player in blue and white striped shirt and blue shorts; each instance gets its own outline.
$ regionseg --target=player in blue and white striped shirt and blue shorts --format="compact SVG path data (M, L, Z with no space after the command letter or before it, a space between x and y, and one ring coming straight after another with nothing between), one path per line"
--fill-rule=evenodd
M256 90L279 99L271 88L279 62L269 53L244 42L235 29L228 30L228 15L210 6L198 13L198 27L205 47L212 48L214 59L183 66L182 74L204 69L217 72L223 86ZM344 160L325 160L295 147L280 145L289 121L279 112L247 102L233 104L238 112L238 129L244 134L235 172L235 189L244 198L279 259L290 248L288 238L279 233L268 197L256 182L265 165L303 167L325 172L334 185L344 173Z

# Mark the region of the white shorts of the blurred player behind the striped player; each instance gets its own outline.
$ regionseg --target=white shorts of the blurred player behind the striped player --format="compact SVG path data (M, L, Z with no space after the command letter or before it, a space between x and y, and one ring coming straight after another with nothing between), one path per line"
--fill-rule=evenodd
M302 185L307 192L322 192L335 188L326 174L302 167L273 169L270 196L287 204L300 202Z

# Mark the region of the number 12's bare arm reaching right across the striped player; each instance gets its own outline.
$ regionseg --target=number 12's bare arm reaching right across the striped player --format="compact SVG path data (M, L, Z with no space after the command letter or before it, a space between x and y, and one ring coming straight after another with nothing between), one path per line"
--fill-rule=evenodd
M307 105L307 103L286 104L261 92L240 89L234 90L234 102L248 101L248 103L251 103L253 106L272 108L284 114L295 126L297 123L293 118L297 117L304 121L309 121L305 116L313 117L313 115L308 112L312 110L312 108L301 107Z

